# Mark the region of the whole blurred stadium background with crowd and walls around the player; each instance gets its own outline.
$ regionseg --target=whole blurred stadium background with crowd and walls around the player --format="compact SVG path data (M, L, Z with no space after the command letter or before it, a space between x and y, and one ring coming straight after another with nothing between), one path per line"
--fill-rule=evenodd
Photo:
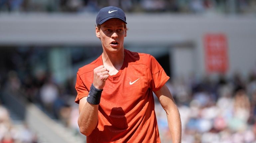
M183 143L256 143L255 0L0 0L0 143L86 142L76 72L102 53L95 18L109 5L126 13L124 47L171 77Z

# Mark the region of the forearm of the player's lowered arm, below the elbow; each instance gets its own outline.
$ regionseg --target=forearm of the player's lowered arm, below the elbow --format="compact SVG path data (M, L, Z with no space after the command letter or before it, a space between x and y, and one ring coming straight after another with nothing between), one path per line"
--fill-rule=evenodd
M173 143L181 143L181 118L177 107L173 107L170 112L167 113L167 120L169 130L172 136Z

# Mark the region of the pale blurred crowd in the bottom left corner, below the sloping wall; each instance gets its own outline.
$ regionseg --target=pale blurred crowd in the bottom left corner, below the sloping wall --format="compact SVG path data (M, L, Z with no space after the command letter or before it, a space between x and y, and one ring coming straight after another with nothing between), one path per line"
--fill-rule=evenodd
M0 143L38 143L26 124L13 124L9 111L0 105Z

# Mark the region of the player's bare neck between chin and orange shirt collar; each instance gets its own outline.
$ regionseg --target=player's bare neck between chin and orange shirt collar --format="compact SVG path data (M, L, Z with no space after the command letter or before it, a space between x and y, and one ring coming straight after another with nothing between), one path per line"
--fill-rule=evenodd
M109 70L120 70L124 62L124 50L117 53L107 53L103 51L102 54L103 65Z

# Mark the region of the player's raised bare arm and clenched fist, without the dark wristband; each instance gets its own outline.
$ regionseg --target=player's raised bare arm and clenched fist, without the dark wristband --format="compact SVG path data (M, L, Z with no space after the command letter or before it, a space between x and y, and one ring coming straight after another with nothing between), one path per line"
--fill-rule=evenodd
M103 65L93 70L93 85L96 89L103 89L108 78L108 70ZM87 97L79 100L78 126L80 132L86 136L90 135L98 123L99 105L87 102Z

